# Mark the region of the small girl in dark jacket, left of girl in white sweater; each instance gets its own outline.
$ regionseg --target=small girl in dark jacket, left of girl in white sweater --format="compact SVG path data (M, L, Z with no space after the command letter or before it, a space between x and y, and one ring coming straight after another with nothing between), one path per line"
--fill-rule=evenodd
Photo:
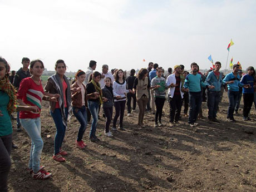
M111 85L111 78L106 77L104 79L105 81L105 86L102 88L102 96L105 98L105 101L103 102L103 110L104 114L107 118L107 121L105 123L105 136L107 137L112 137L112 133L109 130L110 123L112 120L112 114L113 114L113 88L110 86Z

